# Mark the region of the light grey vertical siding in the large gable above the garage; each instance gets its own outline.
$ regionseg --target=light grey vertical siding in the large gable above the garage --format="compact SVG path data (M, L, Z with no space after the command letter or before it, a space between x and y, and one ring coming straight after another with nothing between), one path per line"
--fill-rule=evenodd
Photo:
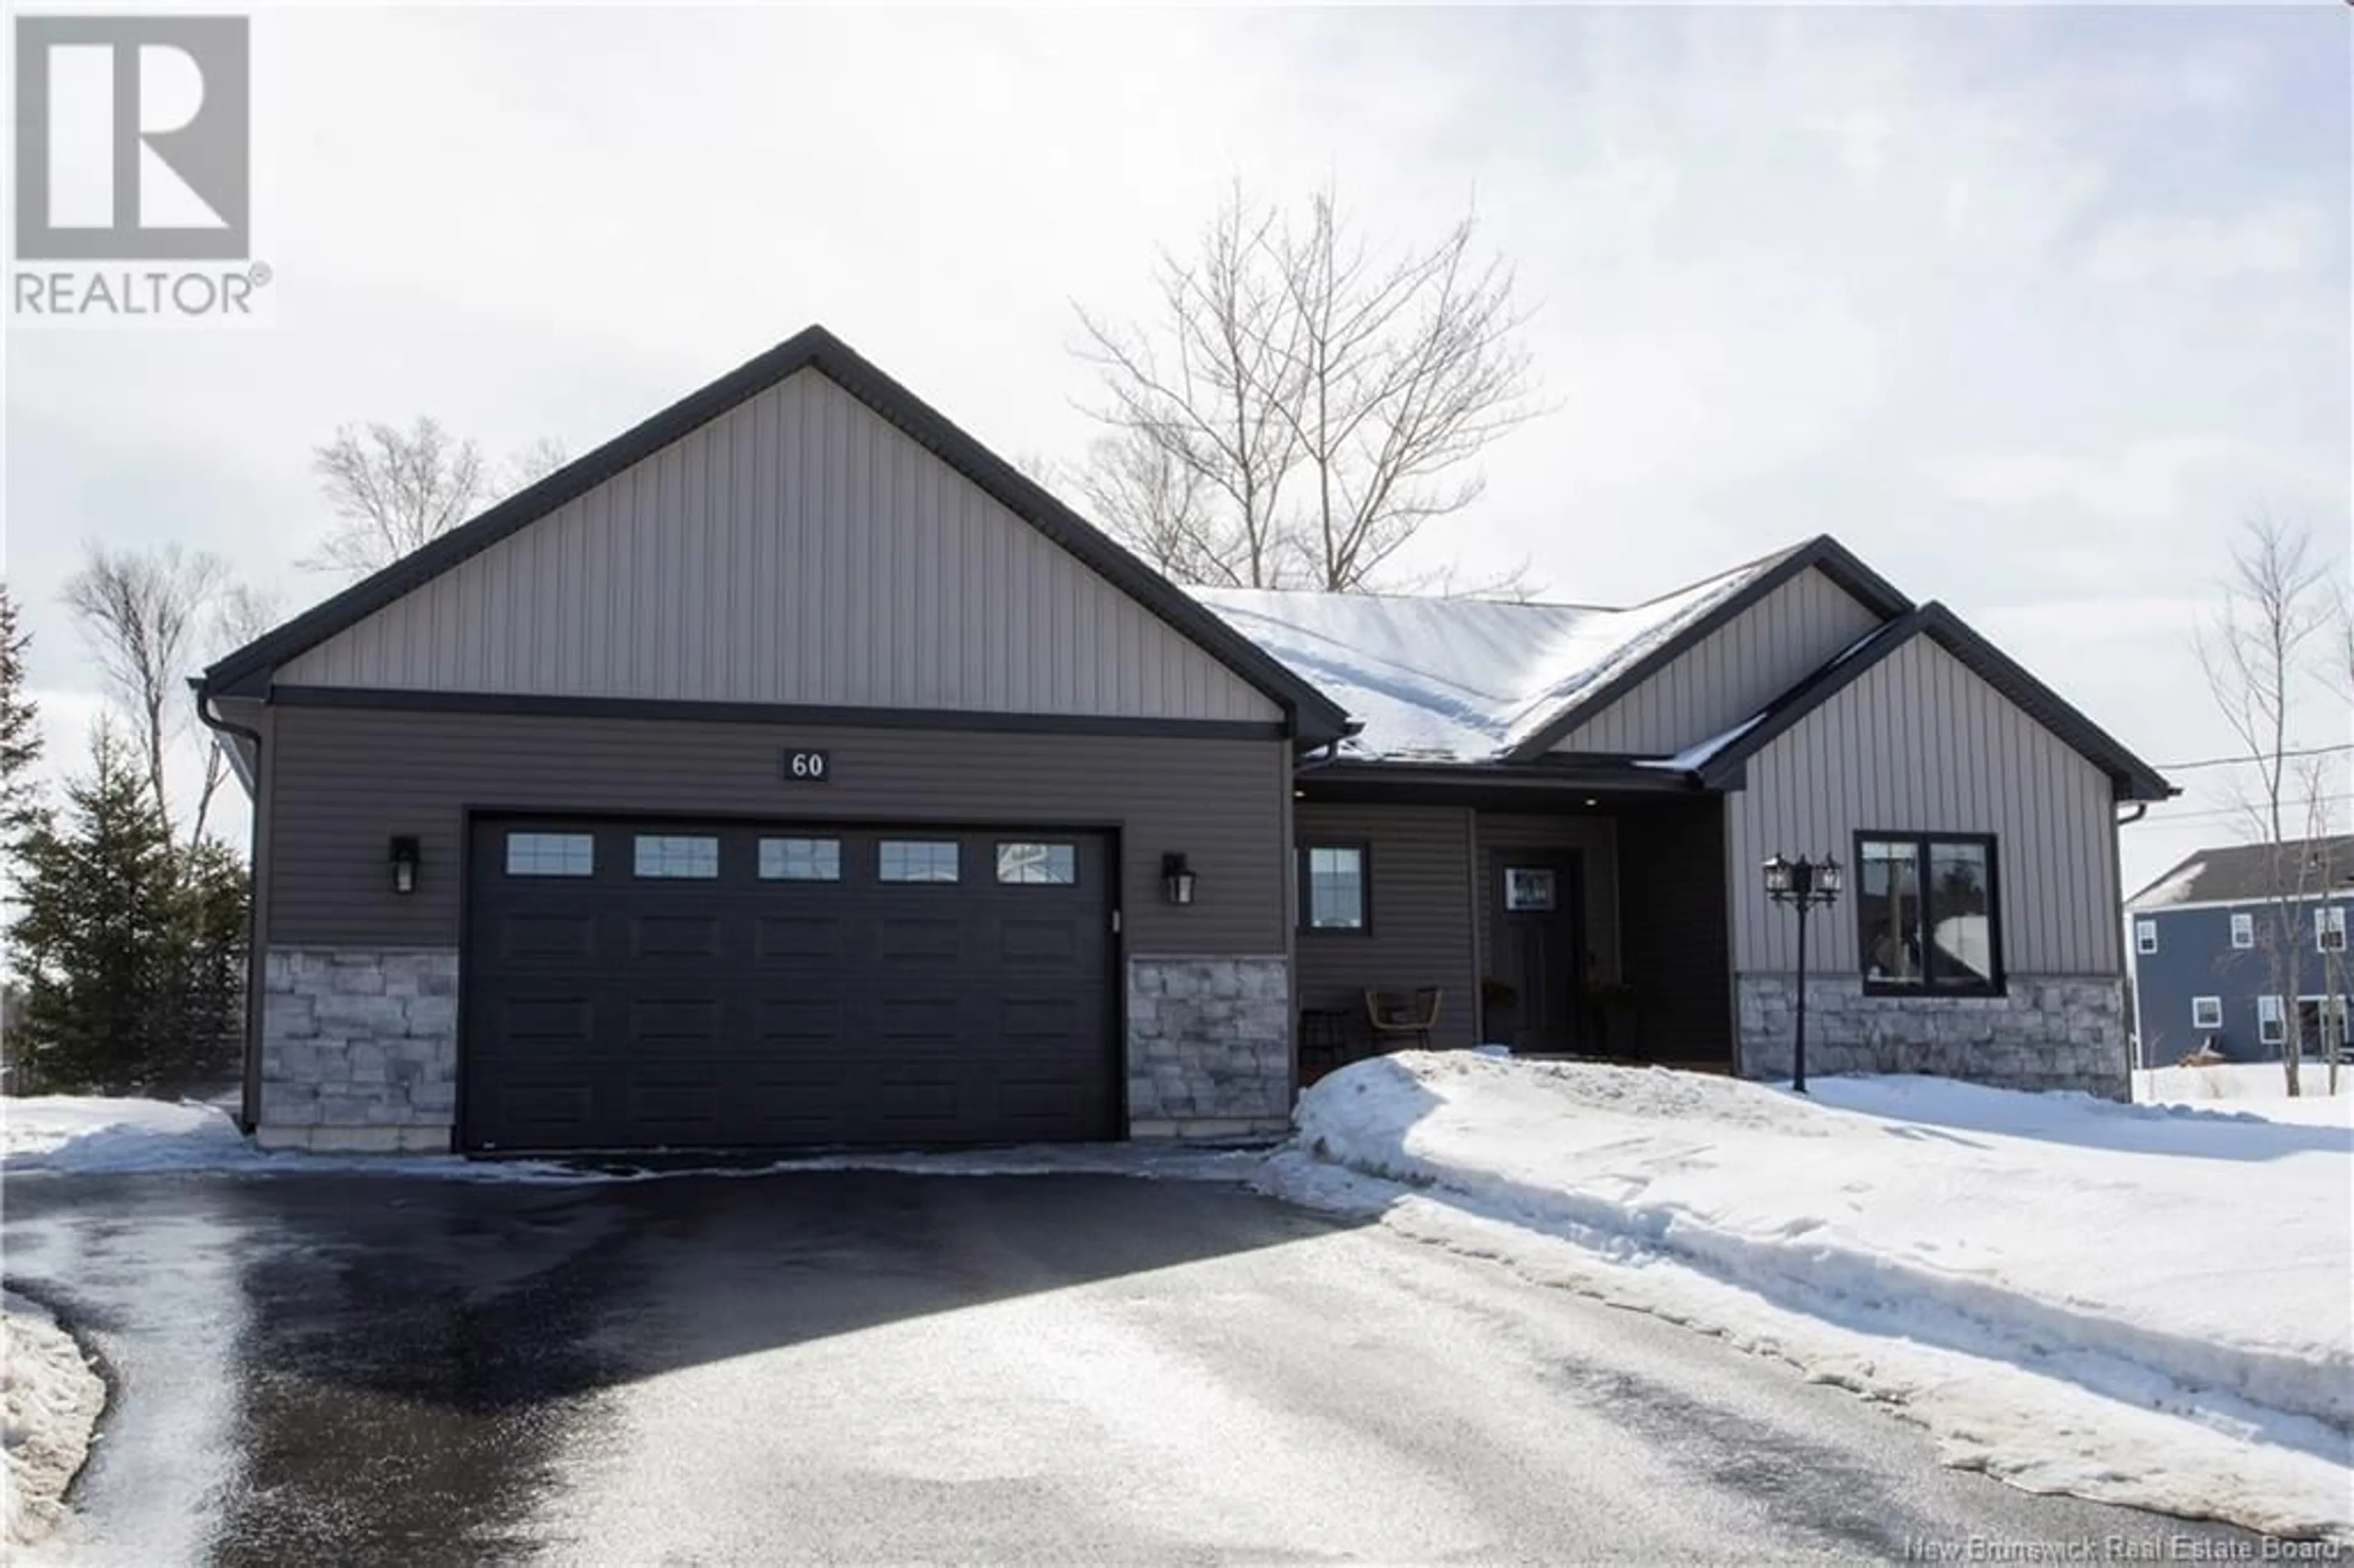
M334 633L278 680L1283 718L817 370Z

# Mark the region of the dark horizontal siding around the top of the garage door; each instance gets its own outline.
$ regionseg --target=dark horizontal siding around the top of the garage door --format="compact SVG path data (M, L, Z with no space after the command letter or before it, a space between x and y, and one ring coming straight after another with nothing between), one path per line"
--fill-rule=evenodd
M786 784L786 749L831 782ZM266 939L457 946L468 808L532 812L1118 826L1130 954L1281 956L1290 751L1266 739L1012 735L282 706L268 744ZM417 892L388 841L414 833ZM1189 857L1186 909L1161 855Z

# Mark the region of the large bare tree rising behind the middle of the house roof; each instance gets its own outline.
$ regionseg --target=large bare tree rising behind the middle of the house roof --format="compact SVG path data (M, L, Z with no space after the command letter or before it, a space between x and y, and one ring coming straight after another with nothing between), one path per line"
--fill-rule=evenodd
M1080 311L1109 436L1083 492L1189 582L1365 591L1478 499L1478 454L1530 419L1511 268L1464 214L1375 252L1339 198L1285 214L1233 186L1191 257L1161 254L1156 313Z

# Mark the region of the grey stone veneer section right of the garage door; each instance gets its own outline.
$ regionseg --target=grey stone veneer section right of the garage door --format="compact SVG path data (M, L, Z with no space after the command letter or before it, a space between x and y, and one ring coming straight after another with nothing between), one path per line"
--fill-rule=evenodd
M1288 958L1128 961L1130 1137L1269 1137L1290 1118Z

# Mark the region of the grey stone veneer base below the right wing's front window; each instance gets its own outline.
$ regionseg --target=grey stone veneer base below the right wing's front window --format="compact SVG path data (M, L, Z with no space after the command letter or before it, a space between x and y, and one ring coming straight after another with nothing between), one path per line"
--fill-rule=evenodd
M1742 975L1735 991L1742 1076L1789 1078L1796 977ZM1855 975L1808 975L1806 1071L1933 1074L2130 1099L2126 989L2104 975L2013 975L2003 996L1864 996Z

